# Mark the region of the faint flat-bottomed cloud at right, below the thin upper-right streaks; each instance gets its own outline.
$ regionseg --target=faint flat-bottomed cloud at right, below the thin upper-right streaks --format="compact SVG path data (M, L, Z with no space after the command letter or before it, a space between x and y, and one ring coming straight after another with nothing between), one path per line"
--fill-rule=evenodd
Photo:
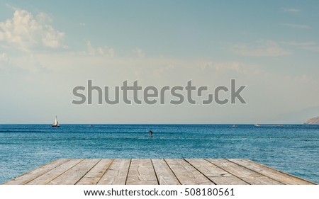
M281 48L276 42L273 41L259 41L257 46L249 46L246 44L238 44L232 47L233 52L243 56L253 57L277 57L289 55L291 52Z

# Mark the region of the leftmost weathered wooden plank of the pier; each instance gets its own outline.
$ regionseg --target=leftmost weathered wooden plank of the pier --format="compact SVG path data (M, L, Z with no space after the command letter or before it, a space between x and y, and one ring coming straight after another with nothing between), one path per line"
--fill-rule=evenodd
M10 181L7 181L6 185L23 185L30 181L32 181L35 178L38 178L39 176L47 173L48 171L51 171L52 169L55 169L55 167L60 166L61 164L64 164L65 162L69 161L69 159L57 159L55 161L51 161L48 164L45 164L43 166L38 167L37 169L34 169L32 171L29 171L26 174L23 174L22 176L18 176L17 178L13 178Z

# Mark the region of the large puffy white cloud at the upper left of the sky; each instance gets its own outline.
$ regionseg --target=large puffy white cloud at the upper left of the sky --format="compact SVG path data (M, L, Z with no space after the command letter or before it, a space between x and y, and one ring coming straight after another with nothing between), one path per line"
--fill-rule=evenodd
M13 18L0 22L0 42L29 51L32 47L65 47L65 33L55 30L49 23L52 18L45 13L33 13L15 8Z

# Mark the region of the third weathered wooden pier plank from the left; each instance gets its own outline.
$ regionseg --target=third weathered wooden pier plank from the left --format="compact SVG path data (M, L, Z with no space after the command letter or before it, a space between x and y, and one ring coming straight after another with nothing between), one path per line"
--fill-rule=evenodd
M79 164L73 166L71 169L65 171L64 174L58 176L47 184L50 185L74 185L79 181L87 172L89 172L100 159L84 159Z

